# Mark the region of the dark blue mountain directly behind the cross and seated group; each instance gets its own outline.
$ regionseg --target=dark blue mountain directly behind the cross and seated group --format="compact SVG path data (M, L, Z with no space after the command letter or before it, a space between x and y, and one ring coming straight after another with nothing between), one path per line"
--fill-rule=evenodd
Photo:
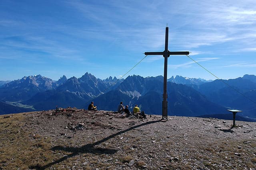
M163 80L158 78L128 76L116 90L98 96L94 99L94 103L98 104L99 109L116 110L118 103L122 101L129 105L131 110L137 104L148 114L162 114ZM226 110L209 102L191 87L172 82L168 82L168 87L169 115L196 116L201 115L201 112L214 114Z

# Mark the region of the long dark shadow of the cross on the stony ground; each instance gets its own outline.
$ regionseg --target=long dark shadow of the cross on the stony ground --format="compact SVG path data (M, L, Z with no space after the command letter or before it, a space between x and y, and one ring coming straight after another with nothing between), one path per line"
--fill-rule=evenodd
M51 150L64 150L66 152L72 152L71 154L68 154L58 160L55 160L54 162L51 162L49 164L46 164L44 166L30 166L29 168L31 169L37 169L37 170L44 170L54 164L58 164L68 158L71 158L73 156L76 156L78 154L82 154L82 153L93 153L93 154L114 154L117 152L117 150L115 149L105 149L105 148L100 148L100 147L95 147L96 145L99 145L100 143L103 143L117 135L120 135L122 133L125 133L127 131L130 131L132 129L135 129L137 127L141 127L141 126L144 126L144 125L148 125L148 124L152 124L152 123L157 123L157 122L160 122L161 120L157 120L157 121L148 121L146 123L142 123L140 125L136 125L136 126L132 126L130 127L129 129L126 129L126 130L123 130L123 131L120 131L118 133L115 133L113 135L110 135L100 141L97 141L95 143L90 143L90 144L87 144L87 145L84 145L82 147L63 147L63 146L55 146L55 147L52 147Z

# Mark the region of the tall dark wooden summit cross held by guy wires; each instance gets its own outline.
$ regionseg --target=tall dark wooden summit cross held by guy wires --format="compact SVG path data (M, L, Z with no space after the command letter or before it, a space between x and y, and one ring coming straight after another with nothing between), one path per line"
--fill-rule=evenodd
M170 52L168 50L168 27L165 28L165 48L163 52L145 52L145 55L163 55L164 56L164 93L162 104L162 119L167 119L167 60L170 55L189 55L188 51Z

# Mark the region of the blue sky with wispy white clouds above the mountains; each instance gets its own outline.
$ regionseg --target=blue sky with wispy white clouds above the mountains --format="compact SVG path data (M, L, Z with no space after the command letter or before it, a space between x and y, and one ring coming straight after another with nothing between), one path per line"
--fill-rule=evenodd
M190 51L219 78L256 72L255 0L1 0L0 80L41 74L58 80L121 76L144 52ZM163 75L148 56L128 75ZM186 56L168 58L171 76L216 79Z

